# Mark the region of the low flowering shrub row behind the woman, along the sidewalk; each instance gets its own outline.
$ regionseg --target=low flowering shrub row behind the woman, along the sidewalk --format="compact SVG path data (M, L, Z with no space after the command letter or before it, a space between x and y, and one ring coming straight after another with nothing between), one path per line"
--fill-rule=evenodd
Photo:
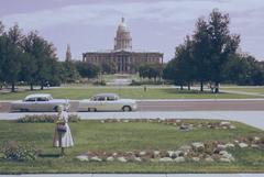
M24 115L18 119L20 123L53 123L56 114L33 114ZM69 114L68 122L78 122L80 117L77 114Z

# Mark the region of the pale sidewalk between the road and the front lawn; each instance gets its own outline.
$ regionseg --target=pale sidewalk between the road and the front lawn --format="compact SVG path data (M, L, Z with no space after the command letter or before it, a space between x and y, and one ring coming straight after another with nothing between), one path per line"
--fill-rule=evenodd
M245 124L264 130L264 111L139 111L139 112L70 112L85 120L101 119L221 119L243 122ZM0 113L0 120L15 120L28 113ZM56 112L45 112L56 114Z

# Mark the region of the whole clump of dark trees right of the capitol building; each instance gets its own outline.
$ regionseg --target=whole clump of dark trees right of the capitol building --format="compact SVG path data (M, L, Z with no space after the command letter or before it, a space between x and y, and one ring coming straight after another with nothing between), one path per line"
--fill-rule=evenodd
M215 92L220 82L238 85L263 85L264 63L253 56L239 53L240 35L231 34L230 18L215 9L208 19L199 18L193 35L187 35L176 47L175 57L163 70L164 79L172 80L183 89L193 82L212 82Z

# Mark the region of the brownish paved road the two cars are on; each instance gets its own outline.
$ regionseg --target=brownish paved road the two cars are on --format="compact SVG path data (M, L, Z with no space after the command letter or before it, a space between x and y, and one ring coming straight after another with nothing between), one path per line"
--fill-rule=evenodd
M76 112L78 101L70 102ZM264 99L166 99L138 100L139 111L262 111ZM10 112L10 101L0 102L0 112Z

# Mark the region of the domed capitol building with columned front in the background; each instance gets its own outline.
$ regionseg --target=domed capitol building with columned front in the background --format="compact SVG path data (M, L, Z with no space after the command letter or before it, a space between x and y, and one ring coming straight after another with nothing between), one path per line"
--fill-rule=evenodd
M124 18L118 25L114 46L111 51L87 52L82 54L82 62L101 66L103 63L113 63L117 73L134 74L135 66L142 64L163 63L163 54L158 52L139 52L132 49L132 37Z

